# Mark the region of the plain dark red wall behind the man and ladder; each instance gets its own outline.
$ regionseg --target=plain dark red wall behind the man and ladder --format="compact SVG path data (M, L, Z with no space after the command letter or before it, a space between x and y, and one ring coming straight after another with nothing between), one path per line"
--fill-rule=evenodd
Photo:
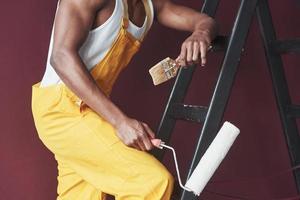
M194 8L201 1L178 0ZM221 1L217 20L228 34L239 1ZM1 1L0 3L0 199L53 200L56 197L56 163L37 137L31 114L31 85L41 80L56 1ZM300 4L272 1L271 9L280 39L299 37ZM148 68L179 53L187 33L155 24L142 50L118 80L113 100L130 116L155 129L173 81L154 87ZM254 18L225 118L241 129L227 158L205 189L202 199L229 199L213 193L249 199L279 199L296 195L290 162L274 100L263 46ZM206 68L197 68L186 103L207 105L223 53L209 55ZM300 60L283 57L293 102L300 104ZM180 122L171 144L178 150L182 174L191 161L200 126ZM164 163L174 173L170 154ZM175 173L174 173L175 175Z

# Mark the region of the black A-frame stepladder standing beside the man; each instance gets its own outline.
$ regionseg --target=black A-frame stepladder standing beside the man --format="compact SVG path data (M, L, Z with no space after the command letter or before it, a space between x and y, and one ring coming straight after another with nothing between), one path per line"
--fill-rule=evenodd
M201 12L214 16L218 4L219 0L205 0ZM181 68L157 131L158 138L169 142L176 120L203 123L188 177L195 169L220 128L235 80L243 46L255 12L260 24L283 132L289 148L291 164L292 166L300 164L300 137L295 120L295 118L300 118L300 106L291 103L281 59L282 53L300 52L300 40L276 40L267 0L241 0L231 34L228 37L218 36L213 42L212 51L225 49L225 55L209 106L185 105L183 103L196 66ZM158 159L162 160L164 151L155 150L153 153ZM299 192L299 169L294 170L294 176ZM196 198L191 192L187 191L183 191L181 195L181 200L193 200Z

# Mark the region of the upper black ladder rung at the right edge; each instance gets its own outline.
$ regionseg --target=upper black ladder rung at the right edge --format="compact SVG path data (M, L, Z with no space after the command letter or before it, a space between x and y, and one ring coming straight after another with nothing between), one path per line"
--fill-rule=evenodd
M272 47L277 53L300 53L300 39L293 40L277 40L272 43Z

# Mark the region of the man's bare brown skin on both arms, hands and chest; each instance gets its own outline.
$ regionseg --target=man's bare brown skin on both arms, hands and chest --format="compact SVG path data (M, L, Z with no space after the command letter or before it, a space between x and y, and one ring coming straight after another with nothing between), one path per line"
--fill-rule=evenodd
M142 26L145 9L141 0L127 0L129 19ZM206 64L206 52L217 34L215 21L205 14L174 4L170 0L152 0L159 23L192 34L182 44L180 65ZM103 24L112 14L112 0L61 0L55 19L51 65L62 81L91 109L105 118L121 141L138 150L151 150L155 138L150 127L127 116L97 86L78 51L91 29Z

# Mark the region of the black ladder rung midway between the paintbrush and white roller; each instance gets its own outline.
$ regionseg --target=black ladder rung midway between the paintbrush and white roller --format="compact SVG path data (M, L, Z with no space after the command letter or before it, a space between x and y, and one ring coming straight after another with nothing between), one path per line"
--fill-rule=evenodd
M174 119L201 123L205 121L207 107L186 104L173 104L171 105L168 114Z

